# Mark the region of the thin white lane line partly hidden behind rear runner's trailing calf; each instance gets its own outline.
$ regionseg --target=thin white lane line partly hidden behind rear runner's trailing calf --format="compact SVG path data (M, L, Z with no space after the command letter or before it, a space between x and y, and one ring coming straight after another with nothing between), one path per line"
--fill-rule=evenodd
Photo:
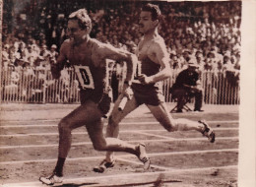
M19 121L18 121L19 122ZM230 121L207 121L207 123L239 123L238 120L230 120ZM104 123L106 125L107 123ZM153 124L160 124L158 121L145 121L145 122L121 122L120 125L153 125ZM0 128L20 128L20 127L56 127L57 124L52 124L52 125L0 125Z

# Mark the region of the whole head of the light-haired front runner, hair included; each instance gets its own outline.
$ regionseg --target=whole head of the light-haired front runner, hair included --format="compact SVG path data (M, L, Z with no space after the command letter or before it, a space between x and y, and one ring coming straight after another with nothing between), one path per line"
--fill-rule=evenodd
M70 37L80 39L92 31L92 21L86 9L79 9L69 16L68 31Z

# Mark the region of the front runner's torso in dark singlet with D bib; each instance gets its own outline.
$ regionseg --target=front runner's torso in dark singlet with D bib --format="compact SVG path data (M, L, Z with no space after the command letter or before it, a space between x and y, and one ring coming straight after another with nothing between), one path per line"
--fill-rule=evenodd
M81 102L92 99L98 103L105 91L106 67L96 62L96 60L100 60L97 56L97 48L100 43L96 39L90 38L85 45L83 51L76 50L70 45L67 58L75 69L81 90ZM104 56L104 54L100 54L100 56Z

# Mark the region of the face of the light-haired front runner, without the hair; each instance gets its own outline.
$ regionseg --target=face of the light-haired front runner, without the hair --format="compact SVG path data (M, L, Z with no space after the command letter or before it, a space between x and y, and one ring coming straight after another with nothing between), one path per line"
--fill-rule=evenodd
M78 20L70 20L68 22L68 33L71 39L74 41L79 41L87 33L86 30L82 30L79 27Z

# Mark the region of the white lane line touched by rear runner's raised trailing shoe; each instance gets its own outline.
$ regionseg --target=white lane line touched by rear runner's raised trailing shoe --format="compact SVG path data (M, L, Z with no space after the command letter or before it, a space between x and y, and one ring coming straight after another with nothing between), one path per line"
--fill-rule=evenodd
M218 141L220 140L238 140L239 137L218 137ZM179 142L179 141L207 141L206 138L167 138L167 139L154 139L154 140L133 140L133 141L126 141L128 143L151 143L151 142ZM92 142L79 142L73 143L73 146L85 146L85 145L92 145ZM58 147L58 144L47 144L47 145L26 145L26 146L0 146L0 150L4 149L24 149L24 148L52 148Z

